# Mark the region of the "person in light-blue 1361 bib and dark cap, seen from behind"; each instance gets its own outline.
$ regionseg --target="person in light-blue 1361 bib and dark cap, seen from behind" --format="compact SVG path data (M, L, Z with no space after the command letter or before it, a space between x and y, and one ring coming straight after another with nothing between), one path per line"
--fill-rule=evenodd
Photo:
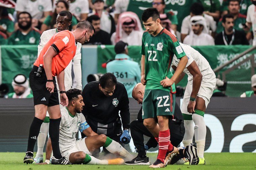
M133 87L140 82L140 67L135 61L131 61L128 56L128 44L119 41L115 45L115 60L106 65L107 72L113 73L117 81L124 84L128 97L132 98Z

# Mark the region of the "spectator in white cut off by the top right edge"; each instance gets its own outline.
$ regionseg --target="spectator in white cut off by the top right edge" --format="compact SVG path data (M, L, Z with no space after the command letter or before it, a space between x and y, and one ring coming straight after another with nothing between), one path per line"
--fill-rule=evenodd
M253 31L253 41L252 41L252 45L255 46L256 45L256 0L252 0L252 5L250 5L248 7L248 12L247 12L247 17L246 17L246 25L244 26L244 30L245 31L250 31L251 27L252 27L252 31Z

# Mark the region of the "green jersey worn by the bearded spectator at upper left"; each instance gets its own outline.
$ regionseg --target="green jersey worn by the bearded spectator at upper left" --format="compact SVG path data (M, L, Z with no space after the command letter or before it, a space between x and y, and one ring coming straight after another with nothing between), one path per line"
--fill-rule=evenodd
M38 45L40 36L40 32L35 29L31 29L27 35L17 30L8 38L7 45Z

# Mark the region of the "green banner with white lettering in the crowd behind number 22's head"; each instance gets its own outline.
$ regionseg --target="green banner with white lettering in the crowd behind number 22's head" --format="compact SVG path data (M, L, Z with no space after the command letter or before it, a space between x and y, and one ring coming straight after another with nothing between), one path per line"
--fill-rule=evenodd
M153 0L130 0L127 11L132 11L141 19L143 10L152 7ZM178 17L178 31L181 31L182 20L190 14L190 6L198 0L165 0L165 12L173 12ZM142 25L143 27L143 25Z

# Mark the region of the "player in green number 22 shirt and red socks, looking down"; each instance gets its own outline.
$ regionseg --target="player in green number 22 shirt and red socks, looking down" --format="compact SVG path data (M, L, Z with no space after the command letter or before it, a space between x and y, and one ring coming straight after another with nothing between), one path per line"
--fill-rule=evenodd
M146 29L140 51L141 83L146 84L142 118L143 124L159 143L157 160L150 167L163 168L179 153L169 140L168 118L173 116L175 106L174 81L185 68L188 58L176 37L161 26L156 8L144 10L141 19ZM170 64L174 54L180 63L172 74Z

